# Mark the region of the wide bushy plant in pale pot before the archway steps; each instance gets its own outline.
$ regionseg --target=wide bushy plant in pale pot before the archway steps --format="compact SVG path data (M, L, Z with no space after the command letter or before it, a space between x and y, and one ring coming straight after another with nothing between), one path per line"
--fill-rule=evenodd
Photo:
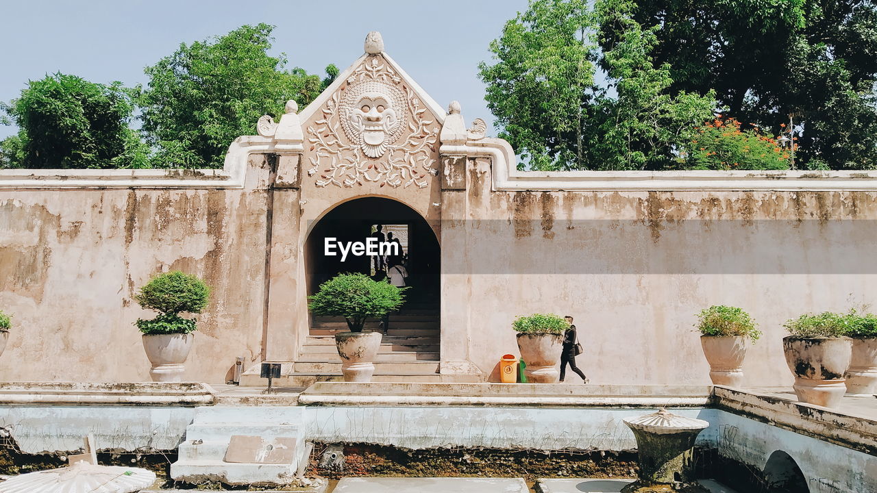
M370 382L381 332L363 332L367 318L381 318L404 303L403 290L364 274L339 274L320 284L308 307L315 315L344 317L350 332L335 334L345 382Z

